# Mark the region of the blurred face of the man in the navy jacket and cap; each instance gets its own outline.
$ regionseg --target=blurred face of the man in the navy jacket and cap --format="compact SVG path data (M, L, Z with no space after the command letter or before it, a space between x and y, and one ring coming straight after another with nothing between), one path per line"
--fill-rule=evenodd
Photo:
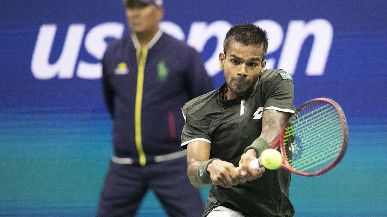
M126 9L126 16L132 31L144 33L158 28L163 18L163 9L153 4L147 5L139 0L131 0Z

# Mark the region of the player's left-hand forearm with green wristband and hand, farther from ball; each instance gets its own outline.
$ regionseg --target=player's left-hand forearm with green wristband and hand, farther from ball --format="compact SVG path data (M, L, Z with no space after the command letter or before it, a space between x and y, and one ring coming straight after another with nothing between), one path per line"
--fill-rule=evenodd
M211 145L205 141L191 142L187 146L187 174L195 188L205 188L212 182L224 188L238 185L241 180L233 164L209 159Z

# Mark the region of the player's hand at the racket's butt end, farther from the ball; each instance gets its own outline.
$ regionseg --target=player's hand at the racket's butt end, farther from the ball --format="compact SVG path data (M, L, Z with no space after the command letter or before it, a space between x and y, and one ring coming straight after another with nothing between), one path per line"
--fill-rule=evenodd
M229 162L214 160L208 165L207 171L211 174L211 180L215 185L229 188L240 182L234 165Z

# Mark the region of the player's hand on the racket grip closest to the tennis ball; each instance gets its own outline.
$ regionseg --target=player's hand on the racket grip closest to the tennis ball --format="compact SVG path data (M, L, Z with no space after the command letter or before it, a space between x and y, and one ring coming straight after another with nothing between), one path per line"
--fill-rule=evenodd
M265 167L262 167L259 170L255 170L250 167L250 161L257 159L254 149L248 150L245 154L241 156L239 161L238 177L239 179L245 179L247 181L252 181L253 179L261 178L262 174L265 172Z

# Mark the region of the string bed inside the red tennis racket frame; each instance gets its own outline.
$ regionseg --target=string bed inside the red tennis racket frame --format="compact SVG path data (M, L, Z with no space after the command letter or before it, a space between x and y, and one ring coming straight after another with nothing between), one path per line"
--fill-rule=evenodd
M291 154L286 153L289 164L304 173L324 169L334 161L342 144L341 121L336 108L329 103L314 103L295 118L289 122L284 136L286 149L294 146L291 159L288 157ZM294 142L290 136L294 136Z

